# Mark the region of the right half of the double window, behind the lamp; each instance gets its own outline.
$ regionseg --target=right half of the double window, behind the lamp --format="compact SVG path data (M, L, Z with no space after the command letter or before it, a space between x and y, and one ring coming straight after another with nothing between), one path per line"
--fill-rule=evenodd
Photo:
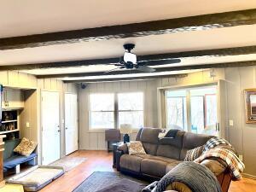
M121 124L131 124L134 128L142 127L144 124L143 108L143 93L119 93L119 127Z

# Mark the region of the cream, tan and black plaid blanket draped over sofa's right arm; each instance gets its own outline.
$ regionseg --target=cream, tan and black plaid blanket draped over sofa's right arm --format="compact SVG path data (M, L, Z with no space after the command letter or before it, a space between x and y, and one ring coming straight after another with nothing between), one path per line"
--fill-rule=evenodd
M212 157L224 160L230 169L232 180L241 179L241 172L243 172L245 166L241 160L232 151L225 148L211 148L202 154L199 158L194 160L196 163L201 163L203 160L210 159Z

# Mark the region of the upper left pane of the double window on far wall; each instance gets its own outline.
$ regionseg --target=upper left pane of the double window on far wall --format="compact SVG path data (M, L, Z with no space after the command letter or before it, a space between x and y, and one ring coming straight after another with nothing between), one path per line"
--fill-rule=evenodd
M113 111L113 94L91 94L90 111Z

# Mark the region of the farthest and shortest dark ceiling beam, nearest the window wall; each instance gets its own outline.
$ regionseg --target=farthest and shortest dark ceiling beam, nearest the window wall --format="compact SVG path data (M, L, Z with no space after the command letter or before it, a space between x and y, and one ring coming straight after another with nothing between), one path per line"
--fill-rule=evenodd
M168 74L163 76L149 75L146 77L133 77L133 78L113 78L113 79L86 79L86 80L64 80L64 83L96 83L96 82L113 82L113 81L131 81L131 80L145 80L145 79L160 79L160 78L185 78L187 73L183 74Z

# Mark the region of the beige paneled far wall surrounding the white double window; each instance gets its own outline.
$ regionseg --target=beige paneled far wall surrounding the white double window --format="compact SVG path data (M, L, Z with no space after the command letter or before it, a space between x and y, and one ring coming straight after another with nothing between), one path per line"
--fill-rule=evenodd
M90 93L119 93L143 91L145 98L145 126L156 127L157 103L156 80L122 81L113 83L89 84L86 89L79 89L79 148L90 150L107 149L104 131L90 131L89 129L89 95ZM137 133L132 134L135 139Z

